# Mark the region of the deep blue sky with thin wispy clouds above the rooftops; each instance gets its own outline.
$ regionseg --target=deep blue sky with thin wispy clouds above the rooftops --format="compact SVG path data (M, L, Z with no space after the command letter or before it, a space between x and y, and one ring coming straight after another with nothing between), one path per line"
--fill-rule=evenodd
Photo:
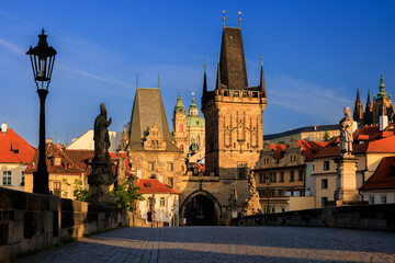
M171 129L181 88L184 105L200 106L203 64L214 89L226 25L241 30L248 81L259 83L264 57L268 106L264 134L337 123L365 104L380 71L395 94L394 1L3 1L0 5L0 122L33 146L38 141L38 96L29 57L42 27L58 52L47 98L47 137L66 142L92 129L99 103L122 130L136 90L160 89Z

